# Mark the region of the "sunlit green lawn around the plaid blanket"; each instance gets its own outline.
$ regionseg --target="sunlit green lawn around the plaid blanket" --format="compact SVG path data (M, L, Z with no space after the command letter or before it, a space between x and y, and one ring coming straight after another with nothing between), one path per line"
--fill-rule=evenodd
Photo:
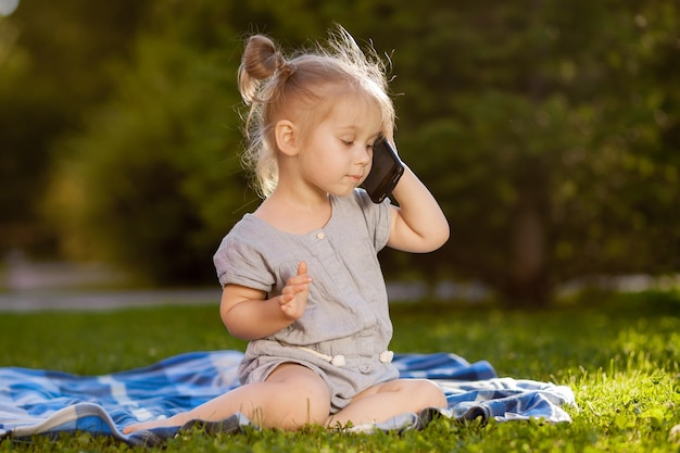
M571 424L456 423L417 432L348 435L196 429L167 452L680 452L680 293L590 294L534 313L427 303L392 307L398 352L455 352L488 360L501 376L570 386ZM104 374L181 352L242 349L217 306L106 313L0 315L0 366ZM1 452L142 451L89 435L33 443L2 441ZM160 450L159 450L160 451Z

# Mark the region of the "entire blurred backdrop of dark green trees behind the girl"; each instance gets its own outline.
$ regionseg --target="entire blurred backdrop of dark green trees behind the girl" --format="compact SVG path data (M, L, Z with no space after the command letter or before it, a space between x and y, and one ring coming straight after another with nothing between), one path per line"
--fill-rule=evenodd
M0 0L2 275L216 285L259 202L243 40L292 49L333 23L389 56L400 154L451 223L438 252L382 252L389 280L537 307L680 272L677 0Z

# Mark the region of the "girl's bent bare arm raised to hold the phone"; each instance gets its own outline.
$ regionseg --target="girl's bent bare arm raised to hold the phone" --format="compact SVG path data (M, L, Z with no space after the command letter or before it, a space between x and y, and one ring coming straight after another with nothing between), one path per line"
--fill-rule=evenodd
M388 246L414 253L439 249L449 239L449 222L427 187L408 168L392 192L393 206Z

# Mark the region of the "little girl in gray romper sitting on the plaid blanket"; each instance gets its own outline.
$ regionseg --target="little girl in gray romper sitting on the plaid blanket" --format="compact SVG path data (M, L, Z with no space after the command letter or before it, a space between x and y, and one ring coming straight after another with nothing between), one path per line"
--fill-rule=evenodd
M399 379L377 253L429 252L449 238L437 201L407 167L375 204L360 186L379 136L393 142L385 67L341 27L328 46L287 59L252 36L239 68L252 164L264 198L224 238L214 262L229 332L250 340L242 386L125 432L221 420L263 427L381 423L445 407L431 381Z

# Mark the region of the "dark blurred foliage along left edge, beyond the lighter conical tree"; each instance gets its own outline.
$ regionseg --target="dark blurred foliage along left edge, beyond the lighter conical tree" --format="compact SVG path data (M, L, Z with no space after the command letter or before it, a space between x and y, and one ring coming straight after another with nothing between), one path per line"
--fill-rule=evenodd
M53 252L39 207L50 143L106 98L144 4L34 0L0 17L0 253Z

